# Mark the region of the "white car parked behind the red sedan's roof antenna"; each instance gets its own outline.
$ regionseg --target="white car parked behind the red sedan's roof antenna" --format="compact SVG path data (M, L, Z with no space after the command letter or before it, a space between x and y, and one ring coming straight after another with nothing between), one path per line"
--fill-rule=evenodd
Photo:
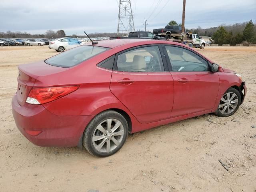
M59 38L59 39L50 41L48 48L54 49L57 52L63 52L64 50L72 49L82 44L84 43L74 38L64 37L64 38Z

